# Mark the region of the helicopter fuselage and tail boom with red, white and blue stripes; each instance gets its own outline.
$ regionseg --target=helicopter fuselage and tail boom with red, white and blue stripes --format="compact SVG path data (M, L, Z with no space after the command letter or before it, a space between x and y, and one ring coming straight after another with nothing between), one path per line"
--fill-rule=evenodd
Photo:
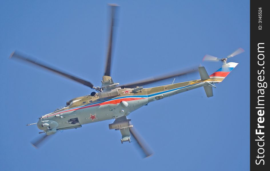
M206 86L207 82L215 84L221 81L219 78L193 80L143 88L137 92L134 92L134 88L117 88L119 95L114 97L100 98L97 95L77 97L69 101L70 105L40 117L37 126L47 135L51 135L57 130L73 129L88 123L127 116L150 102Z

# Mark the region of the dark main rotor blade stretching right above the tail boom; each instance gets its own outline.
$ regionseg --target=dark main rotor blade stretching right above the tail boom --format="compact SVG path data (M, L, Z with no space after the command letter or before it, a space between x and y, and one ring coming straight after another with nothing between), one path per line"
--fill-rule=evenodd
M165 80L165 79L168 79L168 78L183 76L185 74L190 74L190 73L197 72L197 71L198 71L198 67L193 68L193 69L189 69L189 70L185 70L185 71L181 71L181 72L176 72L176 73L173 73L173 74L166 74L166 75L163 75L163 76L148 78L148 79L145 79L145 80L141 80L141 81L137 81L137 82L133 82L133 83L129 83L129 84L123 84L123 85L119 85L119 86L116 86L116 87L133 88L133 87L136 87L136 86L143 86L143 85L146 85L146 84L158 82L158 81Z

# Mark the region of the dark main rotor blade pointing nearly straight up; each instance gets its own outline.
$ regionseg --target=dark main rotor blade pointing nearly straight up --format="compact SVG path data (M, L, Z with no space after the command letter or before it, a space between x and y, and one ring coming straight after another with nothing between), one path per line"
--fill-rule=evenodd
M104 72L105 76L111 76L111 54L112 54L113 37L114 37L113 34L114 34L114 27L115 27L115 13L119 5L109 4L109 6L111 6L111 25L110 25L107 58L106 58L106 63L105 63L105 72Z

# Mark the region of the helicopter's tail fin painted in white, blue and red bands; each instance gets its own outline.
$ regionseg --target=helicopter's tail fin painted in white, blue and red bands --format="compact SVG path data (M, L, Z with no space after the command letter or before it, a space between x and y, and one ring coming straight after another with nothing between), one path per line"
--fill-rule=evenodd
M221 68L219 68L219 70L211 74L209 77L213 80L222 81L237 65L238 63L236 62L229 62L223 65Z

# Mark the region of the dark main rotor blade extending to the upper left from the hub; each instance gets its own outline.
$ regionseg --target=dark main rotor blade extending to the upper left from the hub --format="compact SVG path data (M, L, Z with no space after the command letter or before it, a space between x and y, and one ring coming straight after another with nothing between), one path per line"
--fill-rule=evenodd
M66 78L69 78L69 79L71 79L71 80L73 80L73 81L76 81L76 82L78 82L78 83L81 83L81 84L83 84L83 85L85 85L85 86L88 86L88 87L91 87L91 88L94 87L94 85L93 85L92 83L90 83L90 82L88 82L88 81L86 81L86 80L83 80L83 79L81 79L81 78L77 78L77 77L75 77L75 76L66 74L66 73L61 72L61 71L59 71L59 70L57 70L57 69L54 69L54 68L52 68L52 67L49 67L49 66L47 66L47 65L45 65L45 64L41 64L41 63L39 63L39 62L36 62L35 60L33 60L33 59L29 58L29 57L25 57L25 55L19 54L19 53L16 52L16 51L14 51L14 52L11 53L10 58L21 59L21 60L23 60L23 61L29 62L29 63L34 64L34 65L36 65L36 66L39 66L39 67L41 67L41 68L45 68L45 69L47 69L47 70L49 70L49 71L51 71L51 72L54 72L54 73L56 73L56 74L59 74L59 75L64 76L64 77L66 77Z

